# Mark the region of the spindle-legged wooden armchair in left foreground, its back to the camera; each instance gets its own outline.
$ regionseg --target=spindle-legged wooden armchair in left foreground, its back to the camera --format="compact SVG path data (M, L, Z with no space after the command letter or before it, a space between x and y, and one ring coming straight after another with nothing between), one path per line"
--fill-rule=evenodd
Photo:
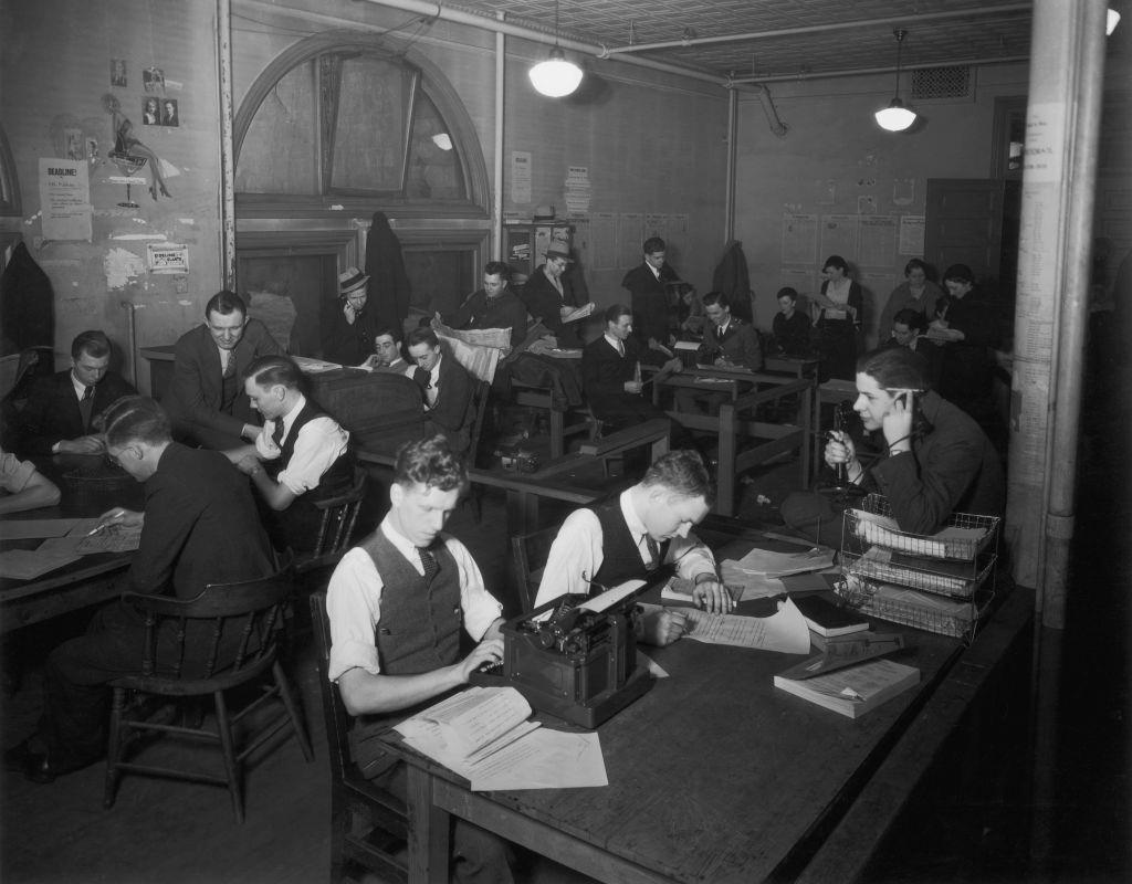
M310 741L302 728L299 706L278 661L278 638L283 607L291 592L290 569L241 583L211 583L195 599L126 593L122 600L134 604L145 621L139 670L110 683L113 703L110 712L110 739L106 750L106 783L103 805L114 804L120 775L140 773L149 776L224 786L232 798L237 822L243 822L241 766L245 759L284 728L290 728L302 748L303 757L314 758ZM254 701L230 714L225 693L256 681L261 685ZM168 697L212 696L216 711L215 731L200 727L128 720L127 692ZM272 700L283 709L268 721L249 719L249 735L237 752L235 726ZM132 731L178 733L221 749L224 775L197 770L142 764L127 759L127 740Z

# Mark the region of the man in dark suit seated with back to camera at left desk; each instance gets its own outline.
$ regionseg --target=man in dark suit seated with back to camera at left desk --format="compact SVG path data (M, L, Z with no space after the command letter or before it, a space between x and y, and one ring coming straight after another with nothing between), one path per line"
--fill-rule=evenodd
M144 513L115 507L100 520L102 525L142 526L125 590L191 599L208 583L254 580L274 570L248 482L223 454L174 443L169 418L144 396L117 402L105 423L106 453L145 483ZM95 616L86 635L52 651L44 668L38 732L5 753L5 766L48 783L100 758L106 745L105 685L138 671L144 635L136 609L119 601ZM200 649L203 656L208 647L195 638L190 633L182 670L190 678L204 663L194 651ZM172 640L169 633L157 641Z

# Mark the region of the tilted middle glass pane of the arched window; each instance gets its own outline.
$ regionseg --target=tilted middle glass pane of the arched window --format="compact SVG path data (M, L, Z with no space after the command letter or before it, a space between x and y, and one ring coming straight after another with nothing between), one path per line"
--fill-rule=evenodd
M331 187L401 191L412 71L376 58L342 65Z

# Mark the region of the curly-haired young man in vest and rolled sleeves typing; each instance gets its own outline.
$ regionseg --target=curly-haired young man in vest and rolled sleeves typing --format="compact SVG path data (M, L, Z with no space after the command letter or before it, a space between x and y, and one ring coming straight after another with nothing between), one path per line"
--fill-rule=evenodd
M441 436L402 446L389 512L342 557L327 590L329 677L357 716L353 762L402 799L404 765L377 737L503 658L503 609L464 544L441 533L466 483L463 461ZM463 660L461 626L479 643ZM513 881L504 842L461 819L453 855L456 881Z

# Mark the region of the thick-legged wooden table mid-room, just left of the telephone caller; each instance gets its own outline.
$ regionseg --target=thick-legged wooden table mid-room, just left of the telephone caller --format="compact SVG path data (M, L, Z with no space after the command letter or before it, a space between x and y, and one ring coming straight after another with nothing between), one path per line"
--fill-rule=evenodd
M679 421L686 429L706 430L719 439L713 512L722 516L734 516L737 504L736 479L743 472L788 452L798 452L800 487L809 487L809 421L814 389L812 379L789 380L781 376L719 368L685 369L677 375L655 377L658 379L653 384L653 401L658 404L660 398L658 388L661 386L727 393L731 398L730 402L720 405L718 415L685 411L668 412L669 417ZM705 384L702 379L712 383ZM744 393L744 389L749 392ZM771 423L753 418L757 406L780 403L783 400L791 401L790 397L797 398L797 423ZM740 449L740 444L748 439L758 441Z

